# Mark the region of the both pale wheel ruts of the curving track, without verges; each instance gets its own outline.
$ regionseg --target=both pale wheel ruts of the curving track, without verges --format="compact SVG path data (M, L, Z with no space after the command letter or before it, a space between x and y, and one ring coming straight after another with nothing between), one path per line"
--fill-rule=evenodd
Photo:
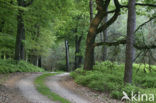
M22 95L28 99L31 103L59 103L54 102L48 99L46 96L40 94L35 86L34 79L41 74L31 74L21 79L17 84L17 88L21 91ZM77 94L65 87L63 87L59 81L68 76L69 73L58 74L56 76L50 76L46 80L46 85L50 88L52 92L60 95L63 98L66 98L71 103L92 103L89 99L82 97L80 94Z

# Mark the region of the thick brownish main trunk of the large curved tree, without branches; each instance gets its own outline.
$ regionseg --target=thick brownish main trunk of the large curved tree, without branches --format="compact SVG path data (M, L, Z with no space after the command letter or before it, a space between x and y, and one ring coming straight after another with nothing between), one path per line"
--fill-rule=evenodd
M95 43L97 28L100 22L102 21L102 19L103 19L103 14L98 12L96 17L92 20L90 24L90 28L86 40L86 52L85 52L85 61L84 61L85 70L92 70L93 65L95 64L94 43Z

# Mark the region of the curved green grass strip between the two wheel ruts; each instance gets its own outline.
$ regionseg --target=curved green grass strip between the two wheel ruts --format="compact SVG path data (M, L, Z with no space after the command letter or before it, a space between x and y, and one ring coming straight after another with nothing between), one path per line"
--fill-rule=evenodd
M59 101L61 103L70 103L68 100L64 99L63 97L60 97L58 94L51 92L51 90L45 85L46 78L49 76L54 76L56 74L58 73L46 73L37 77L34 81L35 86L41 94L47 96L49 99L53 101Z

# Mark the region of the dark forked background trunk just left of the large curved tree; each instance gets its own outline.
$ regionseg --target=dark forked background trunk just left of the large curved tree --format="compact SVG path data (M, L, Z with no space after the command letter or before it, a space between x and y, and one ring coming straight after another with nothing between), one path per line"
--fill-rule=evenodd
M75 36L75 69L79 68L82 61L82 56L80 53L80 44L81 44L82 36Z

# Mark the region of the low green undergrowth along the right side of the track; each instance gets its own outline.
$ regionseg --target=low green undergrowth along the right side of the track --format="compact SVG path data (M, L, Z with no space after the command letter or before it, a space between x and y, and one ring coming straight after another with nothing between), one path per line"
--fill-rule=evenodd
M152 72L146 64L133 65L133 83L124 85L124 64L110 61L96 63L92 71L84 71L82 68L71 73L78 84L87 86L93 90L110 94L114 99L121 99L122 91L131 95L131 91L138 93L152 93L156 96L156 66L152 65ZM144 72L144 68L146 73ZM138 72L136 72L139 69ZM143 103L143 102L141 102ZM145 102L150 103L150 102Z

